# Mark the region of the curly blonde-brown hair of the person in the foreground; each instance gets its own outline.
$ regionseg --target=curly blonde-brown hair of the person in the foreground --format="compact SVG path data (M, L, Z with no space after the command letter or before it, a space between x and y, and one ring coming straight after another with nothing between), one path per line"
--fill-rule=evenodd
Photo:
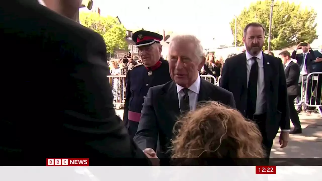
M257 125L238 110L209 101L176 123L172 158L264 158Z

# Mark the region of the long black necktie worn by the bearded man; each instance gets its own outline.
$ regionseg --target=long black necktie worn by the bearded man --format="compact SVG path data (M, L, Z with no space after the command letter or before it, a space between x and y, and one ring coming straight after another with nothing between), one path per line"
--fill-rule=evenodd
M251 66L247 89L247 116L253 116L256 111L258 63L256 57L253 57L252 59L254 60L254 63Z

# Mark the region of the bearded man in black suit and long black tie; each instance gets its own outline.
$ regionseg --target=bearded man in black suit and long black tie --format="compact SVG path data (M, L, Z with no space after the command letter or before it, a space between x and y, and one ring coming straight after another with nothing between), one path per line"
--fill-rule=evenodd
M258 124L269 158L279 128L282 129L279 138L281 148L287 146L289 139L289 109L283 64L281 59L262 52L265 39L262 24L247 24L243 33L246 51L226 59L220 87L231 91L237 109Z

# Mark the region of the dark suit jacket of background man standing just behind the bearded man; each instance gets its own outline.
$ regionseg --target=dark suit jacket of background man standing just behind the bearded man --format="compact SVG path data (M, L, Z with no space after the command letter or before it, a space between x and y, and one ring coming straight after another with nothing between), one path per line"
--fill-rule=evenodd
M289 62L288 66L284 69L286 77L287 94L289 96L299 95L300 87L298 79L300 76L300 68L297 63Z

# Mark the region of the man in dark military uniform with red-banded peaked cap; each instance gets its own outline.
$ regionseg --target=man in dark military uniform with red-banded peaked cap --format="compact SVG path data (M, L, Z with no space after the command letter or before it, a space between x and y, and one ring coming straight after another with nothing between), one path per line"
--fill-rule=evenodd
M150 87L171 81L171 77L168 62L161 58L162 35L142 30L133 33L132 39L137 45L142 64L127 73L123 121L133 138L147 91Z

